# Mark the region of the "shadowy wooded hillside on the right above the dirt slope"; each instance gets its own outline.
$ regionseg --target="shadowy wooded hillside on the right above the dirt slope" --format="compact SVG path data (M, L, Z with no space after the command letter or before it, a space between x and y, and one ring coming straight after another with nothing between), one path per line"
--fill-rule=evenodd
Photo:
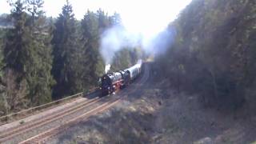
M255 102L255 23L255 1L192 1L170 24L175 42L158 57L162 74L206 106L235 110Z

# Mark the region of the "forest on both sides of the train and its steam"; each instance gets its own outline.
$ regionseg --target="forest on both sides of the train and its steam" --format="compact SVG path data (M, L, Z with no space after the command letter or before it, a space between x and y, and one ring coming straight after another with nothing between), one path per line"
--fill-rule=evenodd
M10 2L11 13L0 16L0 115L88 90L104 74L101 35L122 23L120 15L85 10L77 20L67 1L58 18L48 18L43 3ZM166 31L154 47L168 44L166 51L154 60L171 88L218 109L255 104L255 1L193 0ZM112 70L131 66L140 53L118 51Z

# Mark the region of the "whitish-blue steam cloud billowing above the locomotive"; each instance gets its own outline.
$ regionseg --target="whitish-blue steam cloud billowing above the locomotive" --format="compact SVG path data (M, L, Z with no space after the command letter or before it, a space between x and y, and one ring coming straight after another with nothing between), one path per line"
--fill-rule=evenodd
M109 69L114 54L122 48L142 46L146 54L155 56L166 52L173 43L175 34L174 28L169 27L149 38L143 34L131 34L124 26L113 26L102 34L100 52Z

